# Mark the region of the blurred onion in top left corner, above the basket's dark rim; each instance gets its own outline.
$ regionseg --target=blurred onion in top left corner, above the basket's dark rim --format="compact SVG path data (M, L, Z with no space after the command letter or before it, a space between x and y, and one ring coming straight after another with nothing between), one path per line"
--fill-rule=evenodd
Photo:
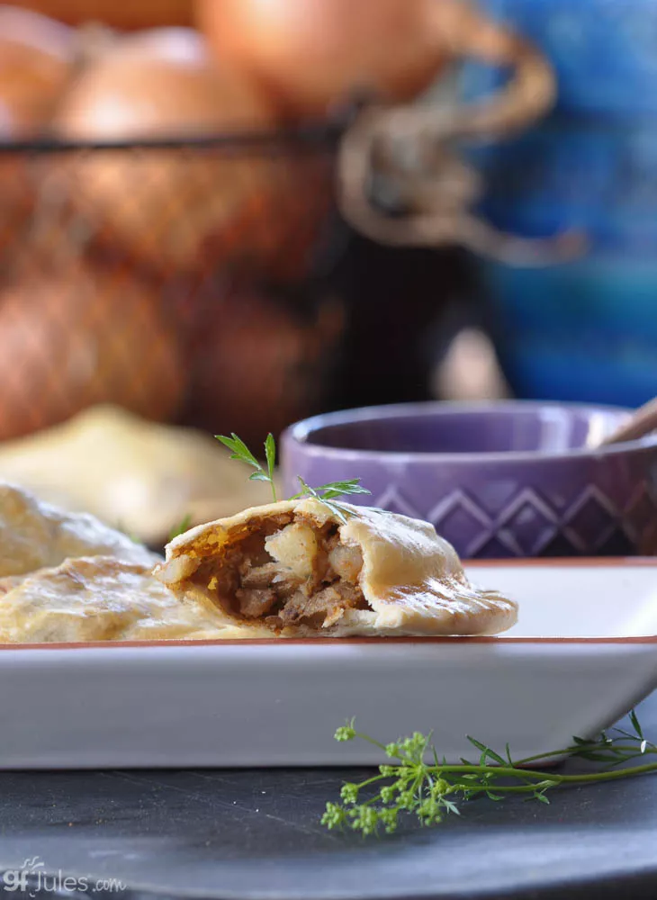
M0 140L43 131L73 74L75 31L0 4Z

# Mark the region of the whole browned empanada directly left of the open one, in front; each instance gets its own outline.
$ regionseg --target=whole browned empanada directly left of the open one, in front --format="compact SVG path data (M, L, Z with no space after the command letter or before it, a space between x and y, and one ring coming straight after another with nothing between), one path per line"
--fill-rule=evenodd
M252 636L202 600L178 599L147 567L110 556L67 560L0 598L0 644L216 640Z

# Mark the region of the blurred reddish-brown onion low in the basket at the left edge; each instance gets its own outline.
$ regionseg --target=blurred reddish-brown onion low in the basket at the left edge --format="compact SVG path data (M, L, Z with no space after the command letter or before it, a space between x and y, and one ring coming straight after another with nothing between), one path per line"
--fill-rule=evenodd
M120 271L27 269L0 291L0 439L115 403L175 416L184 393L176 322L159 293Z

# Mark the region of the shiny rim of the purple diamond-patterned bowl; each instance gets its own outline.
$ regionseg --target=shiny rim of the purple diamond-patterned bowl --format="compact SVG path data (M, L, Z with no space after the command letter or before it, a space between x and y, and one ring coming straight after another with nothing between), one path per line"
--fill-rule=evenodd
M491 452L441 453L440 451L412 450L358 450L352 447L335 447L319 443L310 443L308 438L320 428L334 425L356 425L358 422L411 418L430 413L442 416L444 413L462 415L466 413L493 413L496 410L512 412L514 410L562 410L571 412L608 412L616 413L619 418L629 416L634 410L628 407L611 404L561 402L561 401L419 401L413 403L390 403L378 406L356 407L350 410L321 413L308 419L301 419L285 428L282 446L303 447L306 456L333 458L340 460L363 460L366 457L382 458L397 463L531 463L546 460L565 461L571 459L599 459L600 457L617 456L657 446L657 432L652 435L612 444L605 447L573 447L568 450L495 450Z

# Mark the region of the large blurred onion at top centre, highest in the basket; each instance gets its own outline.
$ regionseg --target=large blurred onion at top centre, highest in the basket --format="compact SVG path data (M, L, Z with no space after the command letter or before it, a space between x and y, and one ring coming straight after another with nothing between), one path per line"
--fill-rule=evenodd
M196 15L217 58L257 80L290 117L308 117L355 91L400 102L427 87L448 61L427 7L428 0L198 0Z

